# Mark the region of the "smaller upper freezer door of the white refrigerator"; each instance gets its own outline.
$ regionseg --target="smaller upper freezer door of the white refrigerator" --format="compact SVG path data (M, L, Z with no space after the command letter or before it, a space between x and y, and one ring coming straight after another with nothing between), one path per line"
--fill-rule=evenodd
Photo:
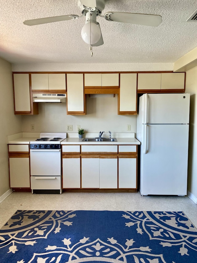
M190 94L144 94L143 96L143 123L146 121L154 124L189 123Z

